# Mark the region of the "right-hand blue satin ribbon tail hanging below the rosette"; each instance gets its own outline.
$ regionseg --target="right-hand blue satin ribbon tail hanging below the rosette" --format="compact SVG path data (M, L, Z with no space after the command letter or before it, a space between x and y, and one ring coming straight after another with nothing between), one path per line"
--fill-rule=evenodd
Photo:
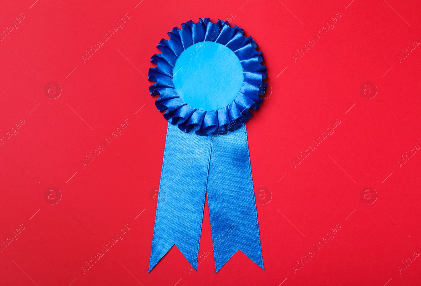
M212 135L207 195L215 272L238 250L264 269L245 123Z

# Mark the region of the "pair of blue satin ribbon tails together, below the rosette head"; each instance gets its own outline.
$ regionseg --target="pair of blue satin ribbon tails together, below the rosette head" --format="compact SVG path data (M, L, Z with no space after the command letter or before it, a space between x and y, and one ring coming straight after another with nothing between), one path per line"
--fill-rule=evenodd
M149 271L174 245L197 269L206 193L215 272L238 250L264 269L245 124L197 136L168 123Z

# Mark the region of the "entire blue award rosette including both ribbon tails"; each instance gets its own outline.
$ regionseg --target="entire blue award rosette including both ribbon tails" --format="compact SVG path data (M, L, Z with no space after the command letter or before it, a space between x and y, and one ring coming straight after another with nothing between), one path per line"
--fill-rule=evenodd
M238 250L264 269L245 127L266 90L263 57L227 22L181 26L161 40L149 70L169 121L149 271L174 245L197 269L205 195L215 272Z

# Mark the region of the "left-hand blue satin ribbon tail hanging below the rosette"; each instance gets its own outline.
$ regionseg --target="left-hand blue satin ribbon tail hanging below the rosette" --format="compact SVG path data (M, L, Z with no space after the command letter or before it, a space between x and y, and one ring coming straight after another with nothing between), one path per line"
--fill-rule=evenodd
M210 141L168 123L149 271L173 245L197 269Z

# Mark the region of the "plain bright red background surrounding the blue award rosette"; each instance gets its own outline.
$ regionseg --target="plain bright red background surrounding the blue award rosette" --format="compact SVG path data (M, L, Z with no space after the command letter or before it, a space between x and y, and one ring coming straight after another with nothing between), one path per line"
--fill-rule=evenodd
M0 240L25 227L0 252L0 284L418 283L421 256L402 273L398 267L421 251L421 154L397 161L421 146L421 46L402 62L398 55L421 41L421 3L139 2L0 4L2 31L25 15L0 42L0 135L25 121L0 147ZM126 13L124 27L83 62L85 50ZM336 13L333 29L294 62ZM197 272L173 248L147 273L156 210L149 194L159 184L167 125L149 95L149 60L166 32L199 17L242 27L267 65L270 96L247 123L254 186L272 193L257 204L266 270L237 252L215 274L206 204ZM50 81L62 88L53 100L44 94ZM378 88L369 100L360 94L365 81ZM84 168L85 156L125 119L124 133ZM334 133L294 168L292 160L336 119ZM51 186L62 194L55 205L44 199ZM378 195L371 205L360 200L367 186ZM84 274L85 261L126 224L124 239ZM296 261L337 224L334 239L294 273Z

